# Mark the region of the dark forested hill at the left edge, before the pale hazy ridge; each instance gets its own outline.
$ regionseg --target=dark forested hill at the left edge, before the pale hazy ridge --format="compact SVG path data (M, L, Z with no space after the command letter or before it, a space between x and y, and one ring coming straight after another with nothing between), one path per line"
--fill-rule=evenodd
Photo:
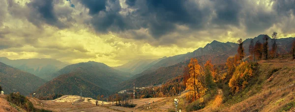
M23 95L29 95L44 83L46 83L45 80L33 74L0 62L0 85L5 94L20 92Z

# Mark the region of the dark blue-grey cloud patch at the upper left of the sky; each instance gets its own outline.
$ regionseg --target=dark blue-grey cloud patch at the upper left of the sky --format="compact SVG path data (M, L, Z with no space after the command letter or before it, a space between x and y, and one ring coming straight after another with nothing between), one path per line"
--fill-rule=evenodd
M58 28L66 27L54 12L54 0L33 0L27 5L31 9L28 20L35 26L40 27L45 22Z

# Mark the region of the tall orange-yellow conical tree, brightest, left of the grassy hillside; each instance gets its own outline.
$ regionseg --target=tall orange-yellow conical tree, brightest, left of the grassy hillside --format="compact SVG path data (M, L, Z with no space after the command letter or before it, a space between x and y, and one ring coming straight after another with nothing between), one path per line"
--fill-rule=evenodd
M198 60L196 58L191 58L188 67L190 78L187 80L186 83L186 90L189 90L186 98L189 100L193 97L193 101L195 101L205 94L207 88L205 87L205 83L203 80L204 75L201 74L201 66L198 64Z

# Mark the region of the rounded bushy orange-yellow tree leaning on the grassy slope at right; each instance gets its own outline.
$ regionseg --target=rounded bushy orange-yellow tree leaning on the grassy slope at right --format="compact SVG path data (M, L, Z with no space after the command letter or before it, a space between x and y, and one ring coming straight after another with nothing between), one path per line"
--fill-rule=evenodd
M229 86L233 93L244 89L248 84L251 76L253 74L251 65L246 62L241 62L240 65L236 67L236 70L230 79Z

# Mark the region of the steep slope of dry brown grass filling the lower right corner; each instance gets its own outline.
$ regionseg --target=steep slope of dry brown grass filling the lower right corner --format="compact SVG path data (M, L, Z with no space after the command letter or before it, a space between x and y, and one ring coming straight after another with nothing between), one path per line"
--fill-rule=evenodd
M225 97L223 111L280 112L295 99L295 61L288 59L264 60L249 86L235 95ZM225 89L226 91L226 89ZM227 96L224 94L224 96ZM226 106L230 105L230 106ZM292 106L293 110L295 105ZM291 109L291 108L290 108Z

